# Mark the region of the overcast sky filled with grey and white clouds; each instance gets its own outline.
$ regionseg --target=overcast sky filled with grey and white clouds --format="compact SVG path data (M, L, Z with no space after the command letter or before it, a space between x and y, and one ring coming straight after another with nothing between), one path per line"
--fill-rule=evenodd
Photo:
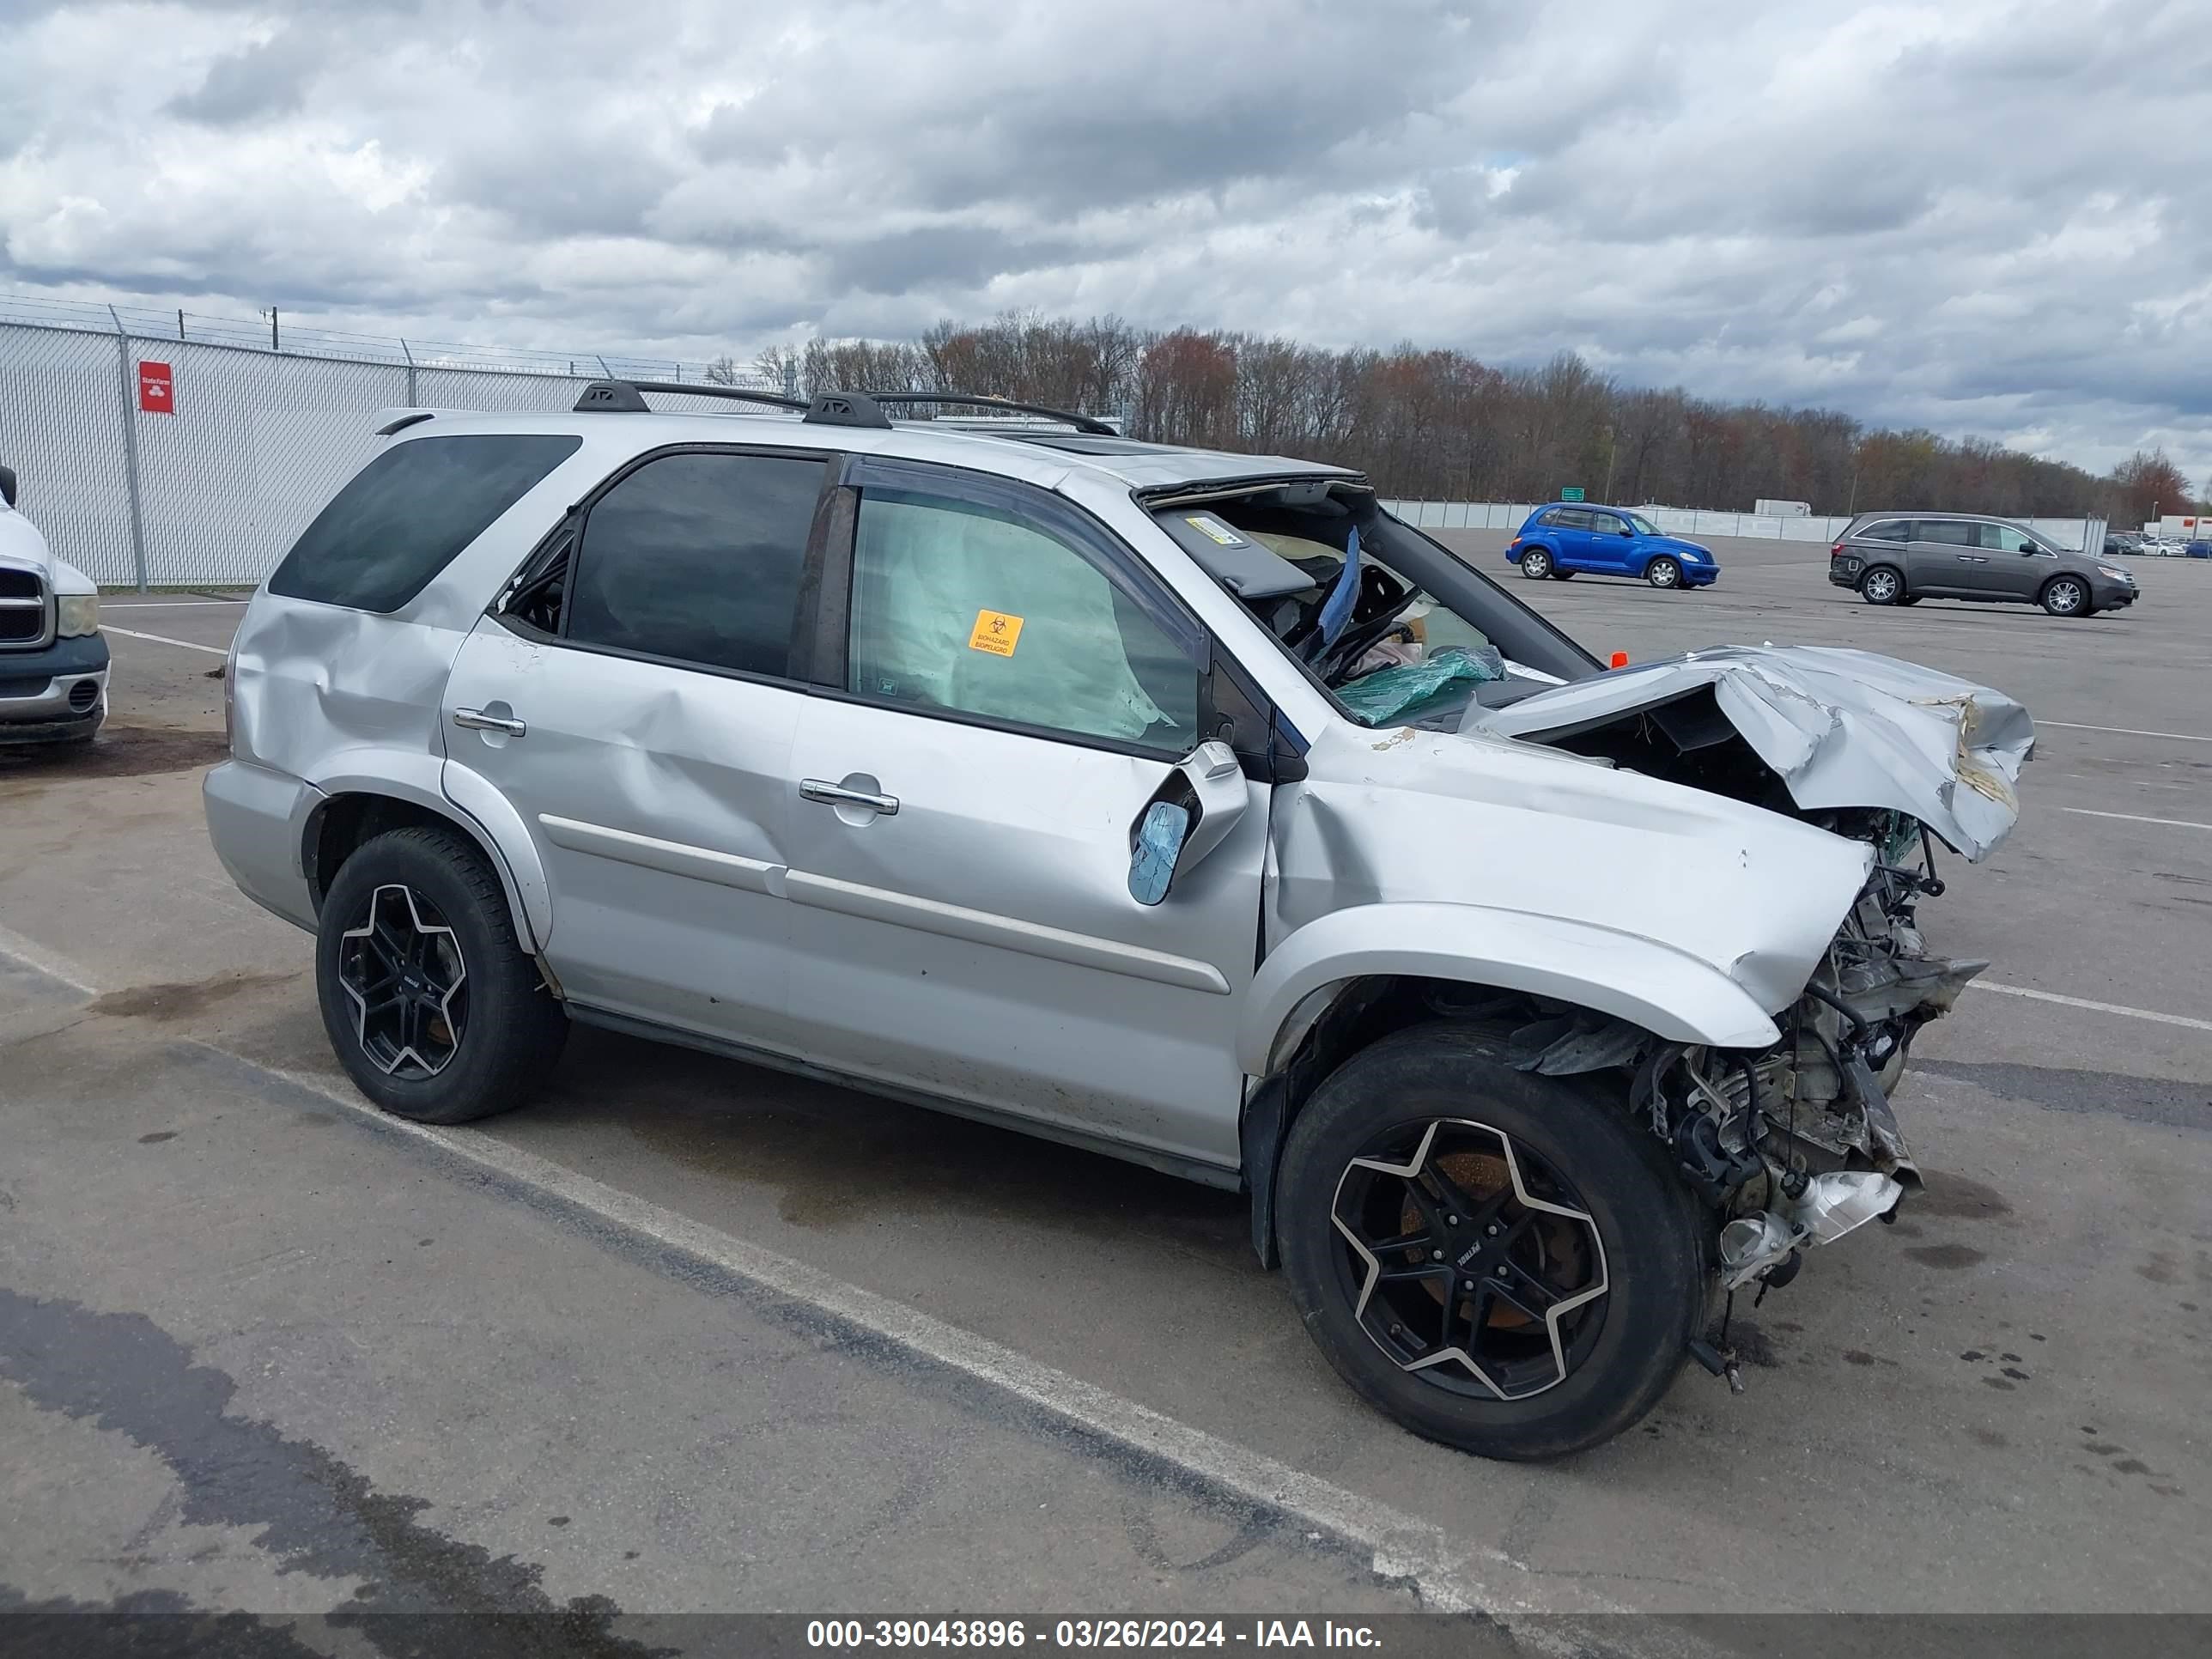
M0 290L1555 349L2212 478L2203 0L0 0ZM2212 484L2208 484L2212 489Z

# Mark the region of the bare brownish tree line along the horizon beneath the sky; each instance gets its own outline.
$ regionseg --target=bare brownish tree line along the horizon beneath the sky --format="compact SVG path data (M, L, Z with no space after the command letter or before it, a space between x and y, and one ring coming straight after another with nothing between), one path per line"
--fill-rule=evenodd
M1121 416L1135 438L1334 460L1385 495L1418 500L1551 500L1577 484L1626 504L1747 511L1765 495L1814 513L1905 504L2141 522L2152 504L2188 511L2190 493L2163 453L2099 478L1984 438L1865 427L1836 409L1630 387L1571 352L1540 369L1498 369L1416 345L1332 352L1006 312L942 321L918 341L776 347L754 367L807 396L987 392ZM717 372L734 376L737 365L723 358Z

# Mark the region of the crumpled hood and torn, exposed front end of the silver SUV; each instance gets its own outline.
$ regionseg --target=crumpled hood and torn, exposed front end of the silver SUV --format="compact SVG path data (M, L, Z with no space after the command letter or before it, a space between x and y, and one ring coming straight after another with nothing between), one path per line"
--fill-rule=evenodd
M1986 858L2020 816L2035 726L2013 699L1860 650L1719 648L1473 708L1464 730L1730 794L1871 847L1869 876L1759 1053L1564 1013L1513 1033L1528 1071L1628 1068L1630 1106L1712 1208L1721 1285L1787 1283L1801 1252L1889 1219L1920 1183L1891 1110L1913 1035L1982 960L1916 920L1936 838ZM1743 978L1745 964L1739 964ZM1703 1358L1703 1356L1701 1356Z

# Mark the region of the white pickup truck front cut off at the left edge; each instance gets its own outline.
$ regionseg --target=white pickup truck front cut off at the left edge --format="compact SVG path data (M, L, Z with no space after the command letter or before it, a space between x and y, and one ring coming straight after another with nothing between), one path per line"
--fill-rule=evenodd
M108 717L100 588L53 557L0 467L0 745L84 745Z

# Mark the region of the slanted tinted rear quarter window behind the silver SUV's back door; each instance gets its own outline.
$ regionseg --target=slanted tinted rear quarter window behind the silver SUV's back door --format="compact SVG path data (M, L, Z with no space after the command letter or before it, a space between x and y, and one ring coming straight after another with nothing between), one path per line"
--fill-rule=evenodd
M568 434L392 445L314 515L270 577L270 593L398 611L582 445Z

